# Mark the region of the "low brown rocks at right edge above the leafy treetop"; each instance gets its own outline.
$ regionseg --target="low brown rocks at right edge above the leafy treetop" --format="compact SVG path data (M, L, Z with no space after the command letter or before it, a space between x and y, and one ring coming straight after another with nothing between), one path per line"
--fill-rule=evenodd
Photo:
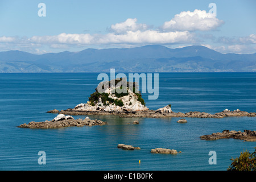
M251 131L251 130L243 130L241 131L229 131L229 130L224 130L222 133L213 133L210 135L203 135L200 137L201 139L204 140L217 140L217 139L224 139L224 138L233 138L233 139L241 139L245 141L251 141L254 142L256 141L256 131Z

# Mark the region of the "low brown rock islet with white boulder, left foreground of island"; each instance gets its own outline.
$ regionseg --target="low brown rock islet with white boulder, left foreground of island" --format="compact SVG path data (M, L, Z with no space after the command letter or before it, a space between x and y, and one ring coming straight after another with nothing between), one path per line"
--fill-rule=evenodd
M70 115L59 114L57 117L52 119L52 121L34 122L22 124L18 127L30 128L30 129L50 129L50 128L60 128L60 127L70 127L70 126L94 126L94 125L106 125L107 122L100 121L97 119L90 119L86 117L85 119L74 119Z

